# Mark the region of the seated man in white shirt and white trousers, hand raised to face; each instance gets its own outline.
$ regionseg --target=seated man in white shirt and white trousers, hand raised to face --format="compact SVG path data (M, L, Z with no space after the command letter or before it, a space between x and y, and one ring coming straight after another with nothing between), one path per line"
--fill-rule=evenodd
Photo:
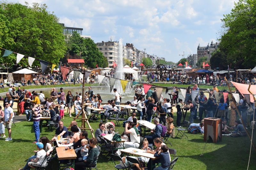
M137 130L135 125L136 124L134 122L126 121L126 123L125 123L124 133L130 134L130 142L125 141L124 148L130 148L130 147L139 148L139 146L140 146L140 133ZM121 149L118 149L116 154L121 155Z

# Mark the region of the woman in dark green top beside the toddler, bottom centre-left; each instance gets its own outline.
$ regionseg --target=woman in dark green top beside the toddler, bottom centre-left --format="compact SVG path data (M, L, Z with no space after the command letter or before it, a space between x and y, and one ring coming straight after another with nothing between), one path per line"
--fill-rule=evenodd
M99 154L99 148L97 147L97 139L96 138L91 138L89 139L89 155L84 162L78 162L75 164L75 169L85 169L85 167L91 167L91 166L96 166L97 164L97 156Z

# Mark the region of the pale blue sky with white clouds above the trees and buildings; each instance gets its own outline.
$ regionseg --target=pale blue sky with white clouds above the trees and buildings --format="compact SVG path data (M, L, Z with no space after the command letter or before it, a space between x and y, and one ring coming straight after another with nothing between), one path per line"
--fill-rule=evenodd
M221 19L238 0L19 0L46 4L68 27L83 28L97 43L132 43L149 55L177 63L197 46L218 42Z

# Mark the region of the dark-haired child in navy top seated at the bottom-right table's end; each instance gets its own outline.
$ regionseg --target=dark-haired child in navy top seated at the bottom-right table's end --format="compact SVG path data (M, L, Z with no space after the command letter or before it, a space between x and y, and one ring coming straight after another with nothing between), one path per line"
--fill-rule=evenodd
M160 163L161 166L158 166L154 168L154 170L167 170L170 166L170 157L169 157L169 152L168 151L168 146L162 145L161 146L161 151L156 152L154 154L154 157L160 157Z

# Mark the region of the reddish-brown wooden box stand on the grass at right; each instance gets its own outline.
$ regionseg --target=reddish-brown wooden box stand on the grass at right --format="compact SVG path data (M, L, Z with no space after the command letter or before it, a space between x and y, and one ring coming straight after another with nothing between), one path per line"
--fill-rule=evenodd
M208 137L212 138L213 143L217 143L218 137L222 141L222 119L214 117L204 118L204 141Z

